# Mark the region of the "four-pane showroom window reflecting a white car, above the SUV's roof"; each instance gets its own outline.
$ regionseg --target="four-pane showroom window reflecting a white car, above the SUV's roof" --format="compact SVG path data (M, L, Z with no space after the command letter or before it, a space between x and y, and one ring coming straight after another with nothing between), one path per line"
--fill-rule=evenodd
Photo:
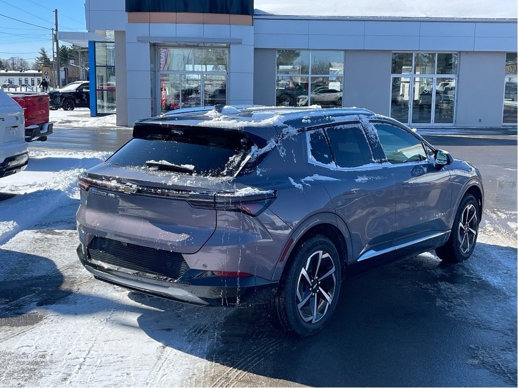
M277 50L276 105L341 107L343 51Z

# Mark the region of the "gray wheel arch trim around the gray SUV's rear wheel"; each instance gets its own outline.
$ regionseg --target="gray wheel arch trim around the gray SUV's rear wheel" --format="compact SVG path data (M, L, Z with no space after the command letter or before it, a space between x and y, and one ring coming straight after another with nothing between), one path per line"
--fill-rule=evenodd
M309 238L315 235L323 235L335 245L338 251L340 262L342 263L342 273L347 267L347 259L351 257L351 242L349 229L341 219L333 213L320 213L311 216L309 219L301 222L287 239L283 247L282 254L277 262L274 271L273 281L281 279L285 273L287 263L293 260L293 253L296 249ZM343 278L343 276L342 276Z

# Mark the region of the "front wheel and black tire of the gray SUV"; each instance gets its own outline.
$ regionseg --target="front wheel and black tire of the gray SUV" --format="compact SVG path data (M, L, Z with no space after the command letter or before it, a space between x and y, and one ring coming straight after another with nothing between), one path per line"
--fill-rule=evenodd
M439 259L449 263L460 263L469 259L477 243L479 222L477 200L467 194L458 205L450 238L435 249Z

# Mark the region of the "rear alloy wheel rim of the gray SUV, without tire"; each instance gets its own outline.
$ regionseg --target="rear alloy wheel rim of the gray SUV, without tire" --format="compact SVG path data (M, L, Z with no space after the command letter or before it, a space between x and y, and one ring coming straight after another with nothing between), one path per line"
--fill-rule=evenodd
M328 252L318 250L307 259L297 281L297 310L308 323L320 321L333 301L336 289L335 264Z

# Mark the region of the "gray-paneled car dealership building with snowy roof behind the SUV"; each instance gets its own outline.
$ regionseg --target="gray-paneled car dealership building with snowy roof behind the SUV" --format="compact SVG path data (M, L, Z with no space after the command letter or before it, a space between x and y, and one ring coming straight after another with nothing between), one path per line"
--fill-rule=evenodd
M92 115L116 112L118 125L252 103L362 107L413 127L516 125L514 0L277 3L85 0L88 32L59 38L88 44Z

